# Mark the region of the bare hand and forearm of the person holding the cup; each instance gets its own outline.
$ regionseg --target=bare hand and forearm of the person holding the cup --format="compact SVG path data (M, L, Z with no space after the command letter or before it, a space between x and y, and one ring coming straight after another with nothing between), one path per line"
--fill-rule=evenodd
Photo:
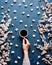
M28 39L24 38L23 39L24 60L29 59L29 56L28 56L29 48L30 48L30 43L29 43Z

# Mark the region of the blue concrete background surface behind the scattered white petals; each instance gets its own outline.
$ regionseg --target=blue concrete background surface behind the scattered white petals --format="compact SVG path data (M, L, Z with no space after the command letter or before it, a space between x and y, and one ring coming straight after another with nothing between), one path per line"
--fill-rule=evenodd
M49 2L51 2L52 0L48 0ZM15 51L15 54L10 54L10 58L11 61L8 63L8 65L22 65L22 60L23 60L23 52L22 52L22 41L20 39L19 36L19 31L21 29L27 29L28 30L28 39L30 41L30 51L29 51L29 57L30 57L30 61L31 61L31 65L36 65L36 62L39 61L40 64L39 65L46 65L41 58L38 59L37 56L41 55L41 52L39 50L37 50L33 45L37 43L37 39L40 40L40 43L38 44L42 44L41 39L40 39L40 34L38 32L38 20L41 18L43 11L39 8L38 10L36 9L36 6L39 5L44 5L44 0L41 0L41 3L38 2L38 0L26 0L25 3L22 3L22 0L17 0L17 3L13 3L13 7L11 7L11 4L13 3L13 0L8 0L8 3L5 3L4 0L0 0L0 6L4 6L4 9L0 9L0 21L2 19L2 15L1 12L5 12L8 8L10 9L9 15L12 18L12 23L15 25L14 27L12 27L10 25L9 30L13 31L13 34L15 36L15 39L10 39L12 35L9 35L8 39L11 40L11 42L13 43L13 46L11 47L11 51ZM33 6L30 6L30 3L33 3ZM19 4L22 4L21 7L19 7ZM28 5L27 8L25 8L25 5ZM30 9L33 8L33 12L30 11ZM17 13L14 14L13 10L16 9ZM22 12L25 11L25 14L22 15ZM41 14L38 16L37 12L40 11ZM27 18L27 14L30 14L30 17ZM17 20L14 20L14 16L17 16ZM23 20L23 23L20 24L19 21ZM32 19L35 19L36 21L33 23ZM7 20L6 20L7 21ZM24 25L27 24L28 27L25 28ZM30 25L33 25L33 27L31 28ZM15 28L18 28L19 31L15 32ZM36 32L33 32L33 29L36 29ZM35 34L36 37L33 38L32 35ZM19 47L15 48L15 44L18 44ZM32 50L35 50L35 53L32 54ZM21 59L18 60L17 56L20 56ZM15 64L14 61L17 60L18 64Z

